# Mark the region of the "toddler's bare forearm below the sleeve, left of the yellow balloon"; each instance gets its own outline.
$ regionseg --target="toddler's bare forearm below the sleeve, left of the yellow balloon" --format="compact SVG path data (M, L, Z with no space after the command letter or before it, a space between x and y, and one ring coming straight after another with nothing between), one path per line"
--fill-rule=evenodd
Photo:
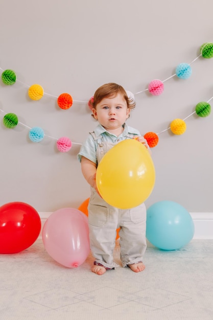
M96 185L96 170L97 165L94 162L90 161L84 156L81 157L81 171L83 173L83 176L88 182L88 184L92 188L96 189L96 191L99 193Z

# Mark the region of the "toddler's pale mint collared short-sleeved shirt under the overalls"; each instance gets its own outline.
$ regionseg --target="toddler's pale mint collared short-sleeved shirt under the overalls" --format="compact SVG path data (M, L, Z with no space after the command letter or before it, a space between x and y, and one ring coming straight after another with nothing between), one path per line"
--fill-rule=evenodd
M113 133L108 132L101 124L99 124L94 129L94 134L98 136L102 136L103 142L111 142L111 143L119 143L122 140L127 139L127 135L135 135L140 136L140 132L132 127L127 126L125 123L123 125L124 131L119 135L116 136ZM96 157L96 150L98 147L98 142L94 141L91 134L88 135L87 139L83 142L80 152L78 153L78 161L81 162L82 155L92 161L93 163L97 164L97 157Z

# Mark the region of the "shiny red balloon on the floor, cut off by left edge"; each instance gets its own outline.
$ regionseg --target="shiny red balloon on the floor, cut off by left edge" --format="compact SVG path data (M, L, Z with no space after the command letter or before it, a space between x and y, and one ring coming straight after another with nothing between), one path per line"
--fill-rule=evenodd
M41 231L38 212L25 202L0 207L0 254L15 254L31 246Z

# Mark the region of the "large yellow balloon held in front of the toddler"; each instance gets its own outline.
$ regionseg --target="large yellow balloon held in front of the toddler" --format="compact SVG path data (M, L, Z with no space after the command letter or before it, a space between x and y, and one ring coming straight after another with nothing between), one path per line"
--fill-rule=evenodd
M143 203L155 184L155 168L147 148L127 139L110 149L101 159L96 183L102 198L119 209Z

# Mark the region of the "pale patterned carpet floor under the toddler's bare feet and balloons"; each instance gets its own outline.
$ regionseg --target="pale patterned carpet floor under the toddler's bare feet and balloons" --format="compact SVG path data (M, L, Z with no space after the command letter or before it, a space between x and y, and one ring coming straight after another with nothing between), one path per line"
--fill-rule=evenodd
M119 240L114 250L120 264ZM2 320L213 319L213 240L192 240L175 251L148 243L143 272L116 268L98 276L91 255L66 268L41 239L0 255Z

